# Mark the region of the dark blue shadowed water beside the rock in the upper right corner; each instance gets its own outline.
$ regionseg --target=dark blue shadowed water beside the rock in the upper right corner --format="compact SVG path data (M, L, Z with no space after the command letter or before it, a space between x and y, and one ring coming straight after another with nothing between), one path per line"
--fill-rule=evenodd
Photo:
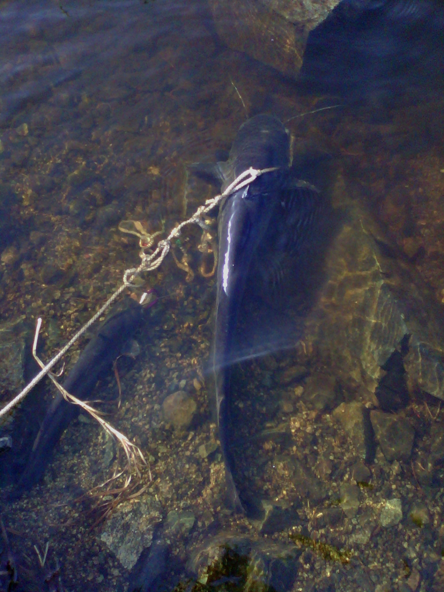
M390 104L442 89L439 0L344 0L308 36L300 82L354 102Z

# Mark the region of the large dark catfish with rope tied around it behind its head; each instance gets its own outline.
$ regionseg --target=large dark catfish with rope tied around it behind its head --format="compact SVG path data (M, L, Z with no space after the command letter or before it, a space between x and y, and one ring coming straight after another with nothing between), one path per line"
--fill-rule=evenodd
M227 488L234 509L243 511L232 474L229 448L230 364L233 337L245 282L275 210L282 168L289 165L289 139L274 117L258 115L243 124L231 147L230 159L220 165L223 186L251 166L278 166L255 183L227 197L218 215L217 301L214 333L214 373L217 422L226 464Z

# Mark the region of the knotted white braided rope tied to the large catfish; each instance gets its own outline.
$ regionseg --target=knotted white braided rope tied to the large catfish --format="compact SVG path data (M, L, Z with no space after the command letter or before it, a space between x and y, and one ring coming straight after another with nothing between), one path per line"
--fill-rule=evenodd
M33 389L36 386L36 384L40 382L41 379L48 374L50 369L53 368L54 365L56 365L56 363L65 355L67 350L69 350L69 348L83 335L83 333L85 333L86 330L88 330L89 327L91 327L91 325L95 323L95 321L105 312L105 310L107 310L107 308L109 308L110 305L115 300L117 300L117 298L126 288L132 285L131 281L133 281L133 279L137 275L139 275L143 271L153 271L153 269L157 269L159 267L163 259L165 259L166 255L168 255L172 240L180 236L182 228L184 228L184 226L187 226L188 224L198 224L198 226L205 227L205 223L202 220L203 214L206 214L210 210L213 210L213 208L216 205L220 204L223 198L227 195L239 191L239 189L242 189L246 185L249 185L250 183L255 181L255 179L257 179L260 175L263 175L264 173L268 173L276 169L278 169L278 167L274 166L272 168L262 170L253 168L245 170L241 175L234 179L233 183L231 183L223 193L221 193L220 195L216 195L216 197L212 198L211 200L207 200L205 202L205 205L201 205L199 208L197 208L197 211L195 211L191 218L188 218L188 220L181 222L178 226L173 228L173 230L169 233L166 239L159 240L159 242L157 243L157 247L153 253L148 255L142 249L142 261L139 267L127 269L124 272L123 285L121 285L121 287L118 288L114 292L114 294L111 295L110 298L108 298L105 304L101 308L99 308L99 310L95 313L94 317L90 318L88 323L86 323L85 325L83 325L81 329L79 329L79 331L69 340L69 342L67 342L65 347L62 348L60 352L57 353L57 355L54 356L54 358L52 358L46 364L46 366L44 366L41 369L40 372L38 372L38 374L31 380L31 382L29 382L26 385L26 387L16 397L12 399L12 401L10 401L4 408L2 408L2 410L0 410L0 417L5 416L8 413L8 411L10 411L13 407L15 407L18 403L20 403L20 401L22 401L26 397L28 392L30 392L31 389Z

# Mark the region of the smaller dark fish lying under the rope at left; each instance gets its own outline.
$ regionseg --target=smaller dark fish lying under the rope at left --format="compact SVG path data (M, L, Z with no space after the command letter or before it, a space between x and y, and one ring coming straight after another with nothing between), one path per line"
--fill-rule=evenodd
M91 392L98 378L111 368L112 363L120 355L124 343L133 336L137 326L143 320L143 314L143 306L128 298L127 307L112 314L99 327L95 337L86 345L63 382L63 387L82 401L91 398ZM40 480L52 458L54 446L79 412L78 405L67 403L62 394L57 392L47 410L30 457L17 484L15 492L17 495Z

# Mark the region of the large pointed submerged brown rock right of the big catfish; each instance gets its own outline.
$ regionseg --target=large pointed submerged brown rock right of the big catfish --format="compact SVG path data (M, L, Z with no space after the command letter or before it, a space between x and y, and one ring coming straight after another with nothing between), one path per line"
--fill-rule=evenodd
M340 182L336 192L348 213L327 254L305 339L364 403L378 406L375 390L396 351L410 391L444 398L444 326L435 295L371 214L346 202Z

